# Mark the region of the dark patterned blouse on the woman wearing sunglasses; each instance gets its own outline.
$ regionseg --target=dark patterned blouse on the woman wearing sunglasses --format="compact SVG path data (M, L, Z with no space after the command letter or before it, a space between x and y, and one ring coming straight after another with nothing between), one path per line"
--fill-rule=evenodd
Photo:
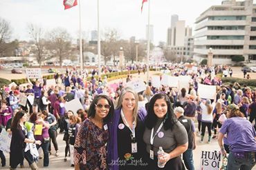
M74 163L80 164L80 169L107 169L108 139L108 129L100 129L91 120L84 120L75 138Z

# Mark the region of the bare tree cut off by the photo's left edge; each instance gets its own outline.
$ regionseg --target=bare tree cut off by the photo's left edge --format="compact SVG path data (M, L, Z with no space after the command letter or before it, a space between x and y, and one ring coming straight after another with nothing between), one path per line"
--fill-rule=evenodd
M0 17L0 56L8 49L8 41L12 35L10 23Z

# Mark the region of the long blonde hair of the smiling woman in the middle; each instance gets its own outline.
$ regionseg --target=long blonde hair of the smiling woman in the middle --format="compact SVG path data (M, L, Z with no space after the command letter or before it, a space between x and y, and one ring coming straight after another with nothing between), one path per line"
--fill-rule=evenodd
M136 121L137 116L138 116L138 94L131 87L125 87L124 89L122 89L122 92L120 94L120 97L119 97L119 100L118 100L118 105L116 106L116 109L121 109L122 108L122 100L124 99L125 94L127 94L128 92L130 92L131 94L134 94L135 107L134 107L134 110L132 112L132 115L134 117L134 121Z

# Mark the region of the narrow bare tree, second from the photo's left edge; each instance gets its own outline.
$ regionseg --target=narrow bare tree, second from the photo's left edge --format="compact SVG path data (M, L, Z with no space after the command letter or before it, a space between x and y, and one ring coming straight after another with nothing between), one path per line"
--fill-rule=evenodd
M39 66L42 67L42 61L44 57L44 30L33 23L28 24L28 34L30 34L31 39L35 43L35 54L37 56L37 62Z

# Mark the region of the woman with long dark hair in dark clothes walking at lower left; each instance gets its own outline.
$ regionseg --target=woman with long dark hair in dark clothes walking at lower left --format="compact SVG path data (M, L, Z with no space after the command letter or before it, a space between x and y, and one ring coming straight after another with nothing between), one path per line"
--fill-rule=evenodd
M23 162L24 158L28 161L31 169L38 169L30 150L24 153L26 143L41 145L40 140L31 140L27 138L28 132L24 126L27 118L25 111L18 111L12 121L12 126L10 128L12 131L12 140L10 142L10 169L16 169L17 165Z

